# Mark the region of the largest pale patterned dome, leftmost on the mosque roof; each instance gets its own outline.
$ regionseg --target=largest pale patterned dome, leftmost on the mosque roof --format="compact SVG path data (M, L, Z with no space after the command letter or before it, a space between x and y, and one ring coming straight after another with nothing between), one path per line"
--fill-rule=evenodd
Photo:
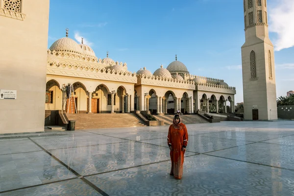
M50 50L55 51L70 51L78 54L82 54L80 46L71 38L64 37L56 40L51 46Z

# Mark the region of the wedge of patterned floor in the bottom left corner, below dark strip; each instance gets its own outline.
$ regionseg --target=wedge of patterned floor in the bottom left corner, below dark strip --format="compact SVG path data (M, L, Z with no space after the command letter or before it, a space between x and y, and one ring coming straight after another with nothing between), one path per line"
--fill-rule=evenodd
M0 196L101 196L80 179L12 191Z

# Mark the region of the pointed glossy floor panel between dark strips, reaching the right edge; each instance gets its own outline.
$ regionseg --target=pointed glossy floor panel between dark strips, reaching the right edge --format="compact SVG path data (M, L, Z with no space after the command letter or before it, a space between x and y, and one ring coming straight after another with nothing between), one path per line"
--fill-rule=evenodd
M294 170L294 146L254 143L207 154Z

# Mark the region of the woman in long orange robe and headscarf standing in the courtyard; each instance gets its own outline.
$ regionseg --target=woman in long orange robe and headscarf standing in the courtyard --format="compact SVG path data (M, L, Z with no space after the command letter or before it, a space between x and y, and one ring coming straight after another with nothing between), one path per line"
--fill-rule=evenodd
M183 175L184 154L188 144L188 132L185 124L181 123L180 116L174 115L173 122L169 128L168 145L172 160L170 175L175 179L181 179Z

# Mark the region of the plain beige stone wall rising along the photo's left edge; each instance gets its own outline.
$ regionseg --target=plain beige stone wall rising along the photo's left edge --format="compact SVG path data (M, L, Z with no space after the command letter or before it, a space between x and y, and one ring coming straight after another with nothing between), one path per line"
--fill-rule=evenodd
M44 131L49 0L0 0L0 134Z

